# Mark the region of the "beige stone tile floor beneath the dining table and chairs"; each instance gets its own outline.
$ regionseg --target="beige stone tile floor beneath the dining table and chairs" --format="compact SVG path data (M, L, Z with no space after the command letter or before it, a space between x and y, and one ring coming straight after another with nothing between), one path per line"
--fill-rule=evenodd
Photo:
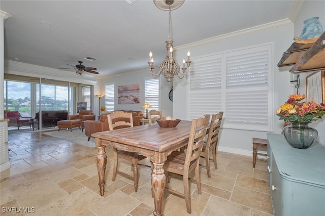
M117 176L112 182L109 147L103 197L99 194L96 148L40 132L9 135L9 148L11 167L0 173L1 215L143 216L154 210L150 168L139 167L137 193L128 179ZM257 161L253 168L252 157L226 152L217 153L217 162L218 169L212 163L211 179L203 167L200 169L201 195L191 183L192 213L187 213L184 199L165 192L164 215L273 215L266 162ZM120 160L119 165L131 172L126 161ZM183 190L177 176L168 184Z

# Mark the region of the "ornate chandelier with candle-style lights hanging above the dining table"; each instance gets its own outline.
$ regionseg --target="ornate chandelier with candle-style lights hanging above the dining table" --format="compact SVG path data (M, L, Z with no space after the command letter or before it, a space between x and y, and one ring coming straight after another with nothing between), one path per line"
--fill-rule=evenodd
M183 67L182 71L180 70L179 64L175 62L175 59L173 57L173 40L171 39L171 10L175 10L179 8L185 0L154 0L154 4L157 6L157 8L161 10L168 10L169 11L169 22L168 22L168 39L166 40L166 48L167 48L167 55L164 59L163 63L159 65L158 73L154 73L154 67L153 67L153 58L152 58L152 52L149 53L149 68L151 71L151 75L154 78L158 78L160 74L163 74L168 82L172 81L175 75L178 76L178 78L182 79L188 72L189 67L191 65L191 61L189 61L189 51L187 52L187 61L183 59ZM186 64L186 65L185 65Z

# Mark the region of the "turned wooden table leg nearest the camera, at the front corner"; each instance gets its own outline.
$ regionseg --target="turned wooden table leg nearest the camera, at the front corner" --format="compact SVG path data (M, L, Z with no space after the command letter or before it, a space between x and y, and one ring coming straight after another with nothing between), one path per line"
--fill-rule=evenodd
M154 163L151 174L151 189L154 199L154 215L163 215L161 205L163 204L163 196L166 185L166 176L164 173L164 163Z

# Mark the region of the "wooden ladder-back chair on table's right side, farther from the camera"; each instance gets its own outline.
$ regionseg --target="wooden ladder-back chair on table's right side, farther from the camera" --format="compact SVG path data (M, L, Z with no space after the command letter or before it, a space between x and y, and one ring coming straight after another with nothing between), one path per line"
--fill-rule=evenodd
M200 163L200 166L206 167L208 178L211 178L210 160L213 160L214 168L217 169L217 145L218 136L221 126L223 112L213 114L211 118L211 123L208 131L208 138L204 142L201 157L205 159L205 164ZM212 158L210 154L212 152Z

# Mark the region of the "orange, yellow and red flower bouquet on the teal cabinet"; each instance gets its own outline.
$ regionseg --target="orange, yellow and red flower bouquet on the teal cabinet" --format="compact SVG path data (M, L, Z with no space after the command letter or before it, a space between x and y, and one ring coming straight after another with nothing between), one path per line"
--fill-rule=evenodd
M305 95L290 95L289 99L276 110L279 120L291 122L311 122L321 119L325 115L325 104L302 102Z

